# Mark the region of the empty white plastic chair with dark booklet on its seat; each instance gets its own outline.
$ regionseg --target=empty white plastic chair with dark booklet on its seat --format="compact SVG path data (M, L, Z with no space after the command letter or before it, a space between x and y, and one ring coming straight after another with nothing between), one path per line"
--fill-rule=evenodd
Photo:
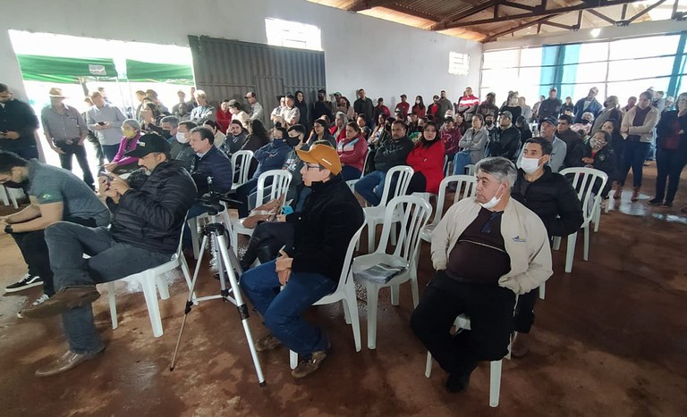
M398 220L394 215L401 213ZM374 349L377 346L377 301L379 288L391 287L391 304L398 305L399 290L403 282L411 281L412 305L417 307L420 303L418 291L418 265L416 253L420 248L420 230L427 224L432 213L432 206L417 196L397 196L386 205L384 226L379 246L372 254L364 254L353 259L353 279L364 285L368 295L368 347ZM394 246L392 254L386 253L386 244L389 240L392 228L396 227L396 221L401 223L401 232L398 244ZM377 283L369 279L361 279L360 271L365 271L379 263L391 266L403 266L403 271L386 283Z

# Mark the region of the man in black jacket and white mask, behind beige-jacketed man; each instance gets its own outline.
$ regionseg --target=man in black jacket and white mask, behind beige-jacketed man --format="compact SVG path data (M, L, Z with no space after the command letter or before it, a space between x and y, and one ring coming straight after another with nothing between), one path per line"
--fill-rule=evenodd
M564 238L580 229L582 204L573 185L559 173L552 172L547 165L551 158L552 144L544 138L530 138L525 142L522 167L518 170L511 196L536 213L548 236ZM518 298L515 307L515 331L511 352L519 357L529 350L528 334L534 322L534 304L538 290Z

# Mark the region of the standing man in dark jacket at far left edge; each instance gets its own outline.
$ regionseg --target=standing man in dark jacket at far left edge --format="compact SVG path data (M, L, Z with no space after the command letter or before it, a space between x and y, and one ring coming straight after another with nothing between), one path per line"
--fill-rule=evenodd
M15 99L12 90L0 83L0 149L24 159L38 158L36 129L38 118L30 105Z

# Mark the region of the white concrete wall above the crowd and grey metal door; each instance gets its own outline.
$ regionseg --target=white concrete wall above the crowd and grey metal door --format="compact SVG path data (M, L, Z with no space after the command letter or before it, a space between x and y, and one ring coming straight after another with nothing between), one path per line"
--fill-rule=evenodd
M20 91L21 75L6 29L178 46L188 46L190 34L267 44L267 17L317 25L327 88L351 101L361 87L370 97L385 97L390 107L402 93L409 101L422 95L427 103L441 89L455 102L463 88L479 86L479 43L304 0L0 0L0 10L0 82ZM450 51L471 55L468 76L448 73Z

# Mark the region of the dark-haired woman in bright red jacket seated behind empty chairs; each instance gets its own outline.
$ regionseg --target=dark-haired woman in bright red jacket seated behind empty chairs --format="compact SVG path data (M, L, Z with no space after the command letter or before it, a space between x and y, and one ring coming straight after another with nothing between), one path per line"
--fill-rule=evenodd
M439 193L439 184L444 179L445 146L438 136L437 123L425 123L420 140L405 160L415 171L407 194Z

